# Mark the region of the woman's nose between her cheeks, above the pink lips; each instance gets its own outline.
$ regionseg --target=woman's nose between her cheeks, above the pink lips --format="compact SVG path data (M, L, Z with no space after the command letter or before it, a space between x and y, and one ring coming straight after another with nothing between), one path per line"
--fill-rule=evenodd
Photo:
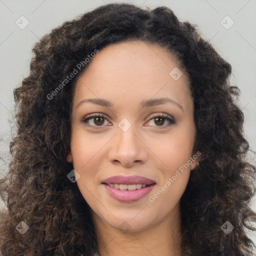
M109 160L123 167L132 167L144 163L148 154L147 147L142 141L142 135L135 131L133 125L126 131L117 127L117 133L113 137L108 154Z

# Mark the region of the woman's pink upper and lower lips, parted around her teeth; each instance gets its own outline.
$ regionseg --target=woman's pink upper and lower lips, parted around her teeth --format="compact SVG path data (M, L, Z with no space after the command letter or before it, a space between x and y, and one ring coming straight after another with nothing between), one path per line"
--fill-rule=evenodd
M146 184L147 186L141 187L135 190L120 190L116 189L115 187L108 186L107 184ZM153 187L155 186L155 181L146 178L143 176L112 176L102 181L103 186L106 188L107 192L112 196L114 199L121 201L121 202L133 202L143 198L146 194L148 194Z

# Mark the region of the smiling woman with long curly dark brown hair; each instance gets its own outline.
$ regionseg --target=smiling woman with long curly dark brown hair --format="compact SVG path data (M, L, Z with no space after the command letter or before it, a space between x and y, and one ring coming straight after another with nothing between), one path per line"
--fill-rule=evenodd
M239 89L193 25L106 4L33 53L14 90L2 255L252 255Z

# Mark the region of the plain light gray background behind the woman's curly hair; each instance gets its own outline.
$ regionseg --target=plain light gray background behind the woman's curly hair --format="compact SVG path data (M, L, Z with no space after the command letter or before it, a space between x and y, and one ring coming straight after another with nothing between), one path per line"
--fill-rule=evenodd
M170 7L181 20L196 23L215 49L232 66L230 82L241 90L239 105L245 114L244 133L256 150L256 0L0 0L0 171L7 170L8 143L13 116L13 88L28 74L33 44L53 27L77 14L110 2ZM29 24L20 29L23 15ZM226 29L232 22L234 24ZM224 18L224 19L223 19ZM24 24L24 20L22 22ZM224 109L223 109L224 111ZM1 205L1 204L0 204ZM256 197L252 199L256 210ZM256 235L250 234L256 243ZM256 254L256 253L255 253Z

